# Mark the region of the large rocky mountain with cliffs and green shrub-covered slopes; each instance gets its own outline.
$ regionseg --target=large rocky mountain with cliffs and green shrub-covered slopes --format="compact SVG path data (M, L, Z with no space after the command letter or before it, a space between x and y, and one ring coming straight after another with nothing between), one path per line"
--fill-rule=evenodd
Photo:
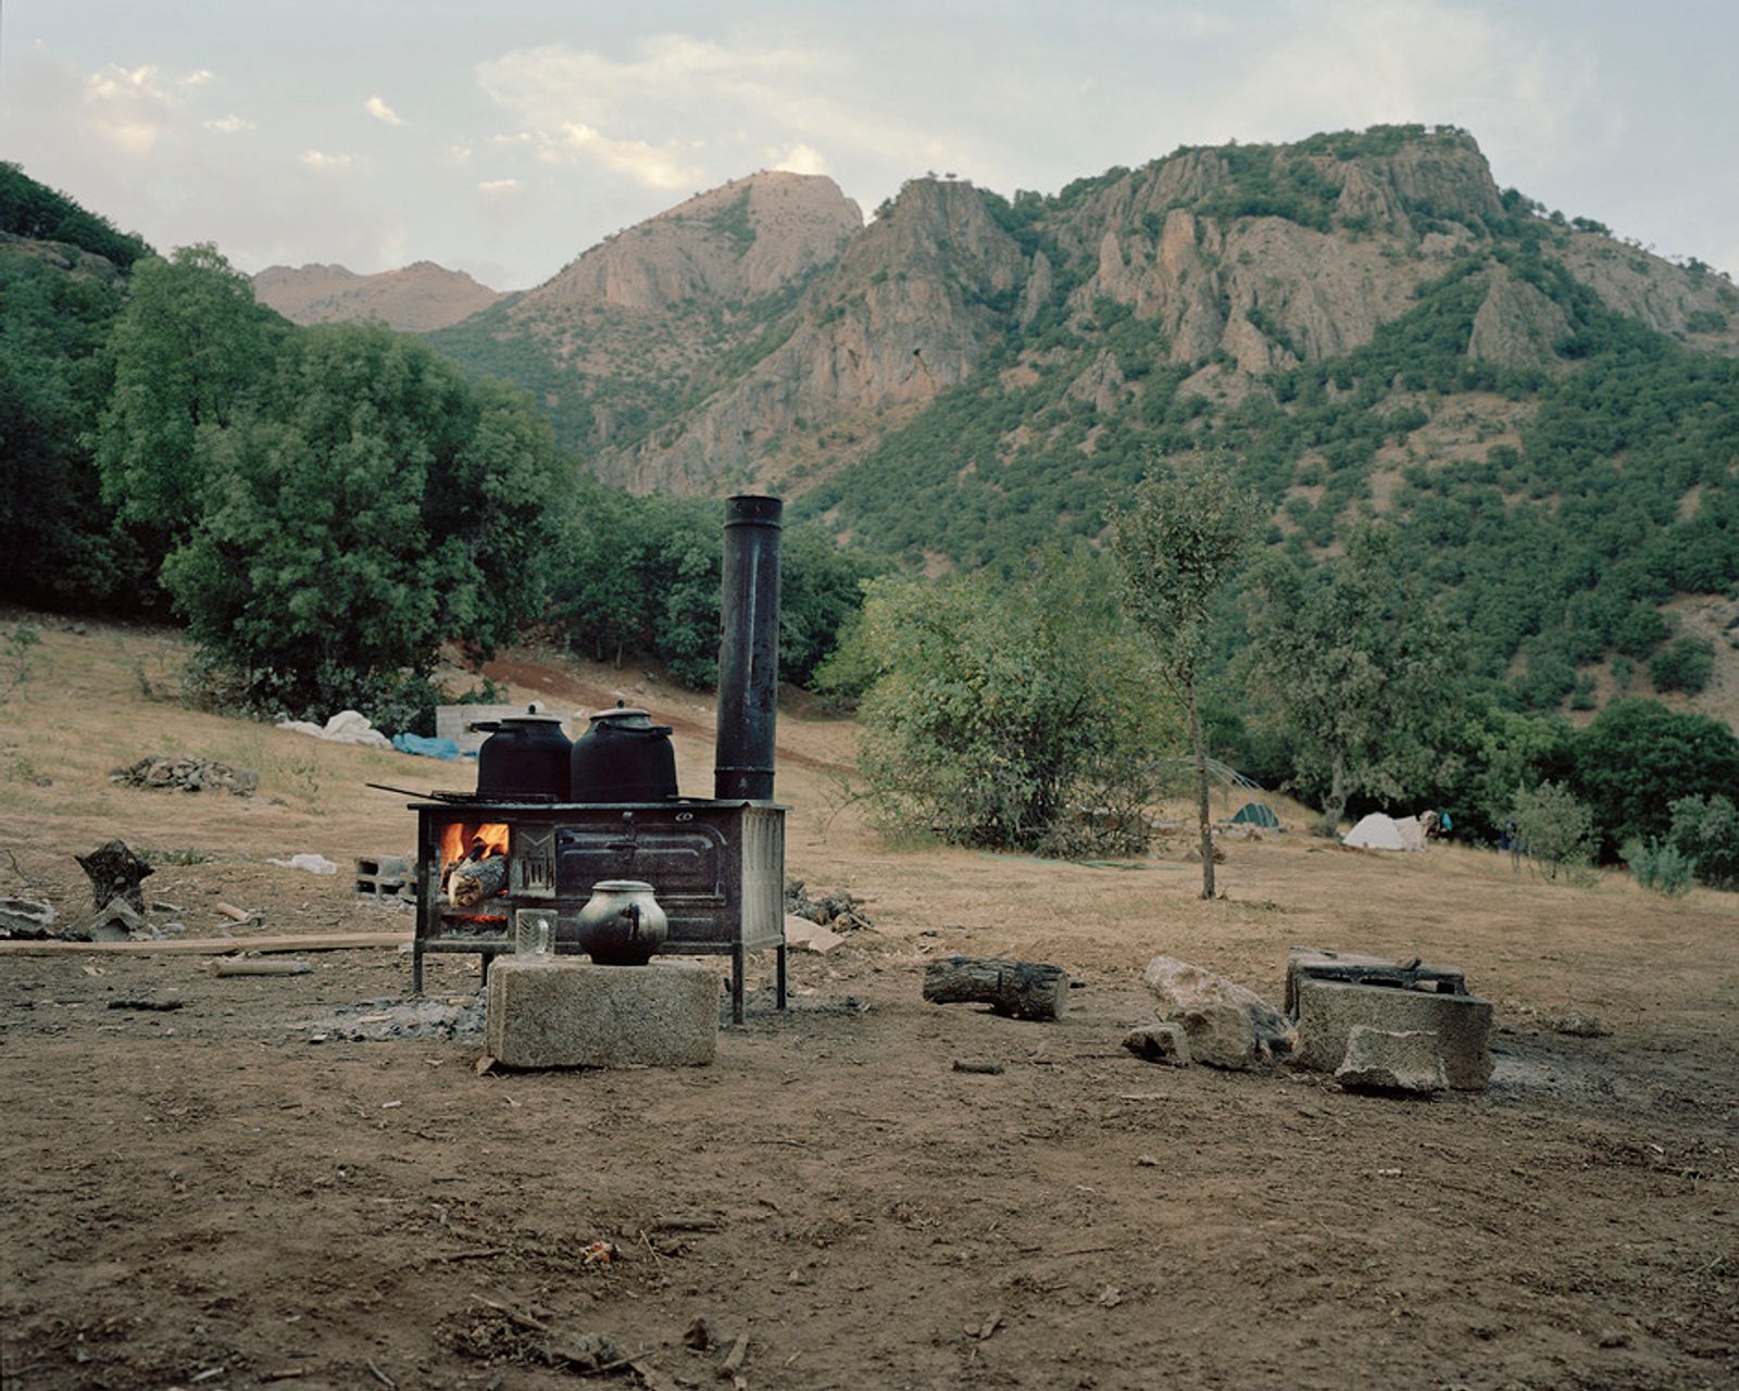
M1210 450L1306 563L1393 520L1523 706L1689 689L1739 642L1678 617L1739 574L1739 290L1501 190L1462 130L1179 150L1054 196L913 179L861 230L809 181L833 216L803 254L763 242L791 179L435 341L537 389L609 482L767 487L932 574L1092 542Z

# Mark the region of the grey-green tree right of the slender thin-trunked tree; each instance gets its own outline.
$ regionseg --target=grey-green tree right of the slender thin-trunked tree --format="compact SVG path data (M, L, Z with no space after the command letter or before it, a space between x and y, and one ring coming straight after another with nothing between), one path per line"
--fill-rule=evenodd
M1250 669L1294 741L1296 775L1323 789L1330 831L1356 793L1398 800L1442 775L1462 694L1457 645L1393 530L1355 532L1311 574L1269 560L1249 598Z

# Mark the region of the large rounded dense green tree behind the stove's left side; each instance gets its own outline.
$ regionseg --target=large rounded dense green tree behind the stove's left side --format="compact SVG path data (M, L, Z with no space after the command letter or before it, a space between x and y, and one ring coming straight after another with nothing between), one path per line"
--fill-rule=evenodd
M403 727L442 643L487 654L541 603L548 424L412 339L297 334L193 466L203 508L163 582L256 706Z

